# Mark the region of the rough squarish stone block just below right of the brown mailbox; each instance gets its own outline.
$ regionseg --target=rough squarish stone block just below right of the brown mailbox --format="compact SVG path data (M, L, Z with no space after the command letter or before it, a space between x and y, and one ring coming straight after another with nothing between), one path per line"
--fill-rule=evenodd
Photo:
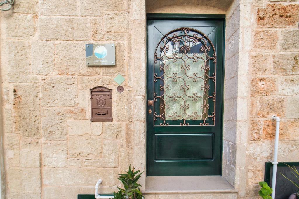
M104 123L103 137L106 140L124 140L125 131L125 123L123 122Z

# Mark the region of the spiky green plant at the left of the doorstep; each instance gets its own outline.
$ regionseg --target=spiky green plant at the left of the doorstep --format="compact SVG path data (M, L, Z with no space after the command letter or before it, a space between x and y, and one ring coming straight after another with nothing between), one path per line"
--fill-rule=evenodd
M140 170L134 171L135 168L133 167L131 170L131 165L129 166L129 171L125 171L126 174L119 174L118 180L123 183L124 189L119 189L118 192L113 192L114 199L143 199L143 195L140 191L141 185L137 183L139 178L141 177ZM139 173L139 174L138 174Z

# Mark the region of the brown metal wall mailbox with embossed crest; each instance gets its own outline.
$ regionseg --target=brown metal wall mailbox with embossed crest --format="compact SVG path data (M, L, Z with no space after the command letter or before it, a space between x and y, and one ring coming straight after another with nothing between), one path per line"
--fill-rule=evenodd
M113 121L112 89L97 86L90 89L90 121Z

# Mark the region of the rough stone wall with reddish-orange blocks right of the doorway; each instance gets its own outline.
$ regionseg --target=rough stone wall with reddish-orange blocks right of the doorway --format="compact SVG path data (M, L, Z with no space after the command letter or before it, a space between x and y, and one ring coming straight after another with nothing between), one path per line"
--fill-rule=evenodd
M298 161L299 4L287 0L249 2L251 28L246 32L252 42L245 43L250 46L246 192L248 198L258 198L257 182L263 180L265 162L273 159L272 115L281 118L278 161Z

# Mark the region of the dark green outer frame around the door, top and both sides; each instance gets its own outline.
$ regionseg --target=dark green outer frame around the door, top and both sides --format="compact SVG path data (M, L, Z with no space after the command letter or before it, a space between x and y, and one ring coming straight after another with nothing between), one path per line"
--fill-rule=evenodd
M146 82L145 82L145 132L146 132L146 141L145 141L145 147L146 147L146 177L148 174L148 163L147 163L147 158L148 158L148 147L147 147L147 139L148 139L148 133L147 133L147 119L148 119L148 115L147 115L147 100L148 100L148 96L147 96L147 82L149 79L149 74L147 73L147 68L149 66L149 57L147 56L147 50L148 50L148 42L149 42L149 35L148 35L148 19L190 19L190 20L223 20L223 55L222 55L222 79L220 80L222 83L222 87L221 87L221 91L222 91L222 97L221 97L221 101L220 103L222 103L222 107L221 107L221 121L220 121L220 128L221 128L221 155L220 155L220 164L221 164L221 172L220 175L222 176L222 160L223 160L223 113L224 113L224 67L225 67L225 14L170 14L170 13L147 13L146 14Z

